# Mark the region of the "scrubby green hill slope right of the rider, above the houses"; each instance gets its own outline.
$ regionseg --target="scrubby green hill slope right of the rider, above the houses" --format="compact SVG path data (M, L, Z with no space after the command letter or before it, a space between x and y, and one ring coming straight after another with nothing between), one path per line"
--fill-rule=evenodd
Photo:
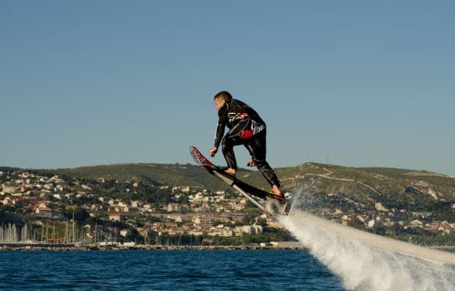
M358 208L382 203L386 208L435 211L449 208L444 201L455 201L455 179L429 171L305 163L277 174L288 189L344 194Z

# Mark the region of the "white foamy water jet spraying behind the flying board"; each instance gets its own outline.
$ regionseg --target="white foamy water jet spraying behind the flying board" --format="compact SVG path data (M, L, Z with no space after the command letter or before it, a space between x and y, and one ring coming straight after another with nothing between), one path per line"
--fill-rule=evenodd
M279 221L340 277L348 290L455 290L455 265L447 263L455 254L418 246L413 249L414 245L342 226L296 208L289 216L279 216ZM435 257L443 262L429 259Z

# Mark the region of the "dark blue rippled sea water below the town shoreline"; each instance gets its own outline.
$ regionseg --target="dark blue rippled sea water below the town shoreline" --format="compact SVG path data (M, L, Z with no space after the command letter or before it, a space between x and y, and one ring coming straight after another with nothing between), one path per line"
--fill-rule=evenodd
M3 251L0 290L345 290L306 250Z

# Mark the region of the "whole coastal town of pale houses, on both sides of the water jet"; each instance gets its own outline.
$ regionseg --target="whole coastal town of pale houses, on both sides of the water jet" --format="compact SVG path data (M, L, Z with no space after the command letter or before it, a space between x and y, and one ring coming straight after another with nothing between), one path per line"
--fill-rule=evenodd
M0 243L270 246L274 239L291 239L279 222L235 192L25 170L0 171L0 181L2 218L21 221L0 221ZM438 221L431 212L387 209L381 203L362 213L325 206L318 214L382 235L455 233L454 223Z

